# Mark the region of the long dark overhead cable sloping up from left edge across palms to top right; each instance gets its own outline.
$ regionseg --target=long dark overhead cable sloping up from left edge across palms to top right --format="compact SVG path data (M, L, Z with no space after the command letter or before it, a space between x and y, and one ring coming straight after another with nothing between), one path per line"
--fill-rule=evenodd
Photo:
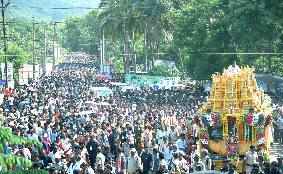
M87 22L87 21L102 21L102 20L111 20L111 19L137 18L137 17L144 17L144 16L154 16L154 15L160 15L160 14L172 14L172 13L179 13L179 12L204 10L204 9L209 9L209 8L225 7L225 6L229 6L229 5L237 5L237 4L247 3L247 2L254 2L254 1L259 1L259 0L244 1L244 2L241 2L241 3L220 5L220 6L214 6L214 7L205 7L205 8L191 9L191 10L174 11L174 12L167 12L167 13L148 14L148 15L140 15L140 16L127 16L127 17L121 17L121 18L108 18L108 19L93 19L93 20L81 20L81 21L60 21L60 22L50 22L50 24L52 24L52 23ZM31 23L12 23L12 24L8 24L8 25L27 25L27 24L31 24ZM42 24L43 25L43 23L35 23L35 24Z

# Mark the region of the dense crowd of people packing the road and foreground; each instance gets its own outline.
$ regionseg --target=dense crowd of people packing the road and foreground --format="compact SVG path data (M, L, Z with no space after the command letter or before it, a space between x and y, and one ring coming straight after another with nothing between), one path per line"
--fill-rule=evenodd
M24 142L3 144L4 153L22 155L33 162L32 167L9 164L9 170L162 174L213 169L209 152L203 150L200 154L196 146L198 128L192 119L208 95L203 87L112 89L113 96L100 96L90 88L110 82L125 83L125 78L97 79L99 71L96 57L75 53L50 74L44 72L29 84L15 89L3 85L1 125L15 136L42 143L42 146ZM85 106L89 101L109 105ZM274 100L274 107L277 102ZM280 113L282 108L278 109ZM80 114L83 111L94 114ZM283 118L283 112L280 114ZM274 130L274 134L278 133ZM260 173L264 165L264 173L269 174L274 171L273 166L278 167L275 163L253 164L250 172ZM282 160L279 165L282 168ZM223 160L223 167L222 172L237 173L235 164L227 159Z

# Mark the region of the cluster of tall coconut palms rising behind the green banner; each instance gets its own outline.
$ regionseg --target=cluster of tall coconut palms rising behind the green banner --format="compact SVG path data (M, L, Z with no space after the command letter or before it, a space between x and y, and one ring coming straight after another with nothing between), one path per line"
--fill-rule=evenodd
M166 41L171 41L173 39L171 31L173 31L175 25L168 17L167 13L172 10L179 10L179 7L181 7L180 5L183 5L184 3L190 5L196 4L193 0L102 0L99 7L103 6L106 8L98 16L98 19L108 18L104 21L102 29L104 35L108 36L110 41L115 41L116 37L118 37L120 38L120 42L123 42L123 40L125 40L126 31L133 33L133 42L135 36L136 38L139 38L143 34L145 53L144 69L146 70L146 36L148 37L151 61L154 66L155 49L159 53L158 42L160 39L158 38L163 38ZM155 46L157 46L157 48L155 48ZM123 53L123 44L121 44L121 49ZM123 56L123 60L124 59L125 56ZM124 68L125 67L124 61ZM184 74L184 72L182 72L182 74Z

